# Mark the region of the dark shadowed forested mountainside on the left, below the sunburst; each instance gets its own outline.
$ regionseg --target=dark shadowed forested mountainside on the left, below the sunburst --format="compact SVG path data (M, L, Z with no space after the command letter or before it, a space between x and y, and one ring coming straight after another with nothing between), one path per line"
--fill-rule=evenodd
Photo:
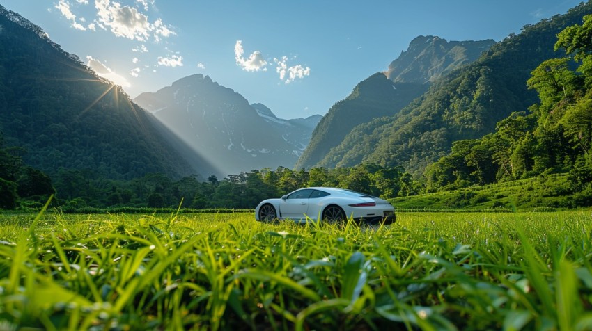
M6 147L19 147L24 163L52 177L192 172L118 86L1 6L0 131Z

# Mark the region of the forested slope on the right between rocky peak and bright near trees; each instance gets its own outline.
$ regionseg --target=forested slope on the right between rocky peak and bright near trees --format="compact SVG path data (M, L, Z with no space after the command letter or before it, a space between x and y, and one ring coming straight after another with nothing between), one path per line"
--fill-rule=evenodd
M353 129L327 154L327 161L317 164L403 165L421 175L450 152L454 141L485 136L500 120L538 102L536 92L526 84L531 71L561 56L561 49L553 47L556 34L591 12L592 4L582 3L566 15L524 26L522 33L509 35L475 63L436 81L396 115Z

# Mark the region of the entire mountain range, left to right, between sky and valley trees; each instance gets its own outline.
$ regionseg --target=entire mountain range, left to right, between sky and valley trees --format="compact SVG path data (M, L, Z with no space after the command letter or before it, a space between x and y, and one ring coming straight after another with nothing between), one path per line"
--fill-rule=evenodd
M263 104L195 74L133 101L0 6L0 131L49 175L84 170L132 179L226 176L252 169L403 165L415 175L538 102L531 71L556 33L592 12L582 3L501 42L420 36L327 114L283 120Z

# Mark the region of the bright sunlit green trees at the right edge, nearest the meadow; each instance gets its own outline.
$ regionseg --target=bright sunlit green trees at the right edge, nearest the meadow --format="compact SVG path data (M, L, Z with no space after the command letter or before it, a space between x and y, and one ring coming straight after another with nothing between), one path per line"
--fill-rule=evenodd
M455 142L428 167L428 191L569 172L575 200L592 204L592 15L555 40L557 54L569 56L545 60L527 81L540 102L492 134Z

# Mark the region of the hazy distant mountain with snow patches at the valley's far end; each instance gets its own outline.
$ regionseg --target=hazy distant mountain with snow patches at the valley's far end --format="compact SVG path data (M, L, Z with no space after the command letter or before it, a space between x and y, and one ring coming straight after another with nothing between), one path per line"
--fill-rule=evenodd
M283 166L292 168L308 145L320 115L283 120L263 104L194 74L157 92L144 92L134 102L164 124L165 136L177 150L208 161L205 175L225 177L241 171Z

